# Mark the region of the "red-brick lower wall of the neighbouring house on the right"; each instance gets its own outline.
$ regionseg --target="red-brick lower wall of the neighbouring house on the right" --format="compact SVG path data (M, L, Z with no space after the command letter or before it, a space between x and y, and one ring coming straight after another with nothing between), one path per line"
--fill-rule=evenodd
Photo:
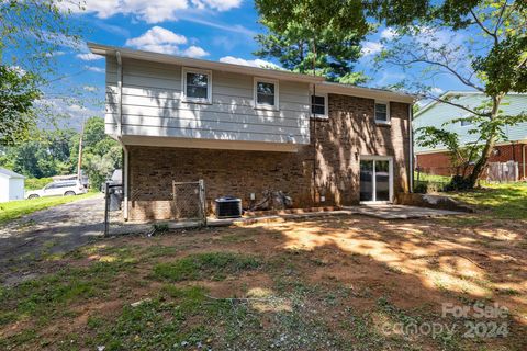
M494 152L490 162L506 162L506 161L516 161L518 162L519 176L520 178L526 178L527 174L523 172L523 146L525 144L508 144L500 145L495 147L496 152ZM456 174L456 169L450 166L450 158L448 152L434 152L434 154L424 154L417 155L415 160L415 166L421 167L425 173L437 174L437 176L452 176Z

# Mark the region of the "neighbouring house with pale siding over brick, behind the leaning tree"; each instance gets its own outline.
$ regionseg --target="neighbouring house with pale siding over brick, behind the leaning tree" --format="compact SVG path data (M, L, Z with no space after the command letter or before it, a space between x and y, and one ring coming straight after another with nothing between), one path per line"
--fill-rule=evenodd
M469 109L478 107L485 101L485 95L481 92L472 91L449 91L441 99L452 99L452 102L467 106ZM522 112L527 113L527 94L512 93L503 99L501 104L503 114L517 115ZM431 102L418 111L413 121L416 137L418 128L423 126L435 126L449 132L455 132L460 138L461 145L474 143L478 140L478 134L470 134L471 124L467 121L449 124L449 121L470 116L466 110L441 102ZM444 123L447 123L444 126ZM527 149L527 123L519 123L506 128L507 139L498 140L490 162L518 162L520 178L527 178L526 173L526 149ZM456 169L450 162L449 152L446 148L424 148L415 146L415 165L424 172L451 176L456 174Z

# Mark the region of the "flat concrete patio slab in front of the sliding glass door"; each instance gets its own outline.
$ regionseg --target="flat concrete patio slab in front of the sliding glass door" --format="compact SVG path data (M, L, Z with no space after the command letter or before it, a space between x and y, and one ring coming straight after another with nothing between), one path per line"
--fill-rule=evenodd
M413 219L427 218L438 216L463 215L463 212L416 207L405 205L360 205L360 206L345 206L344 210L354 212L365 216L381 218L381 219Z

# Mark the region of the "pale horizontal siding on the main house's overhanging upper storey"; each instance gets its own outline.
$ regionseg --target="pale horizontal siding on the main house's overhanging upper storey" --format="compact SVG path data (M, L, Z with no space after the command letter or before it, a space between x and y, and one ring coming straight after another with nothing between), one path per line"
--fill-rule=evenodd
M123 60L123 135L309 144L309 83L280 81L278 110L255 109L254 80L212 71L211 103L187 102L182 68ZM116 61L106 64L106 133L116 133ZM278 88L278 84L277 84ZM279 99L278 99L279 98Z

